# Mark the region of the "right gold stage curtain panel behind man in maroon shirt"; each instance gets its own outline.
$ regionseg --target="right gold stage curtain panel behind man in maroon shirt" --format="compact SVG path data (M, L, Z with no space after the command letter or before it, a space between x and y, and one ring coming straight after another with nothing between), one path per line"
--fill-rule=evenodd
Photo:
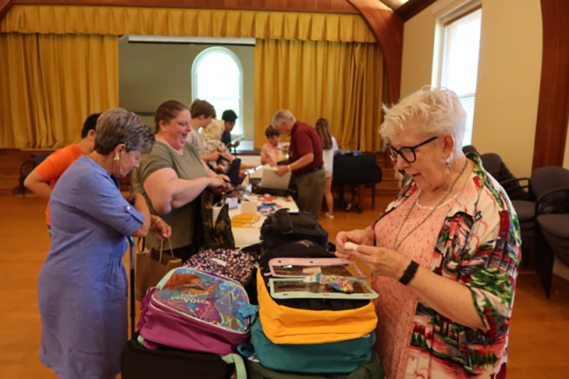
M341 149L379 151L383 57L375 43L257 40L255 148L272 114L311 124L328 119Z

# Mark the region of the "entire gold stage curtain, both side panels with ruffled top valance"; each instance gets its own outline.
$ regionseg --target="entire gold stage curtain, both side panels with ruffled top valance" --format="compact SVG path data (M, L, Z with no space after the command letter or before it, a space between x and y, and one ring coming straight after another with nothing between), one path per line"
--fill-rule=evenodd
M122 34L255 37L255 146L286 107L328 118L344 149L379 149L383 58L359 15L31 5L0 22L0 148L70 144L116 107Z

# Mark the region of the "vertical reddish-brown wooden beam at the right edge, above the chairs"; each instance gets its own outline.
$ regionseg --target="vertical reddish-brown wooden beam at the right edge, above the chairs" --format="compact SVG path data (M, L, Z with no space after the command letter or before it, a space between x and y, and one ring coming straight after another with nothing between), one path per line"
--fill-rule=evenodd
M533 166L563 166L569 121L569 1L541 0L543 55Z

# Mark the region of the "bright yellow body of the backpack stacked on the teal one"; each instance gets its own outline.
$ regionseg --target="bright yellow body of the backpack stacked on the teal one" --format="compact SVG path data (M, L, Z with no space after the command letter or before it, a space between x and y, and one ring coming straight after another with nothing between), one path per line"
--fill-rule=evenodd
M273 343L326 343L359 338L376 330L378 318L373 301L358 309L312 311L279 305L272 299L257 270L259 318Z

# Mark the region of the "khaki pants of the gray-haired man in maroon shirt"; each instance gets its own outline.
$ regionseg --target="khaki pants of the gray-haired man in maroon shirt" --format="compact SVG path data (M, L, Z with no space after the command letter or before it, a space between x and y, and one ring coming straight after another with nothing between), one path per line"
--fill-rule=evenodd
M297 183L299 210L312 213L318 220L326 188L326 171L319 169L309 174L294 176L294 181Z

